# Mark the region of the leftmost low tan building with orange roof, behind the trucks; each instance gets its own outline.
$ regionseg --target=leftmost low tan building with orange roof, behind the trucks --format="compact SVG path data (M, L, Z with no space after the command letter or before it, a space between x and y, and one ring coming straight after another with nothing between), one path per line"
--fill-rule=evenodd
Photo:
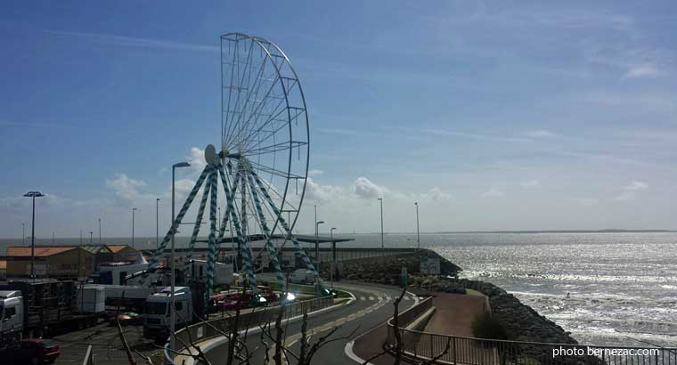
M94 258L84 247L35 247L33 270L38 278L77 279L94 272ZM7 278L29 277L30 266L30 247L7 247Z

